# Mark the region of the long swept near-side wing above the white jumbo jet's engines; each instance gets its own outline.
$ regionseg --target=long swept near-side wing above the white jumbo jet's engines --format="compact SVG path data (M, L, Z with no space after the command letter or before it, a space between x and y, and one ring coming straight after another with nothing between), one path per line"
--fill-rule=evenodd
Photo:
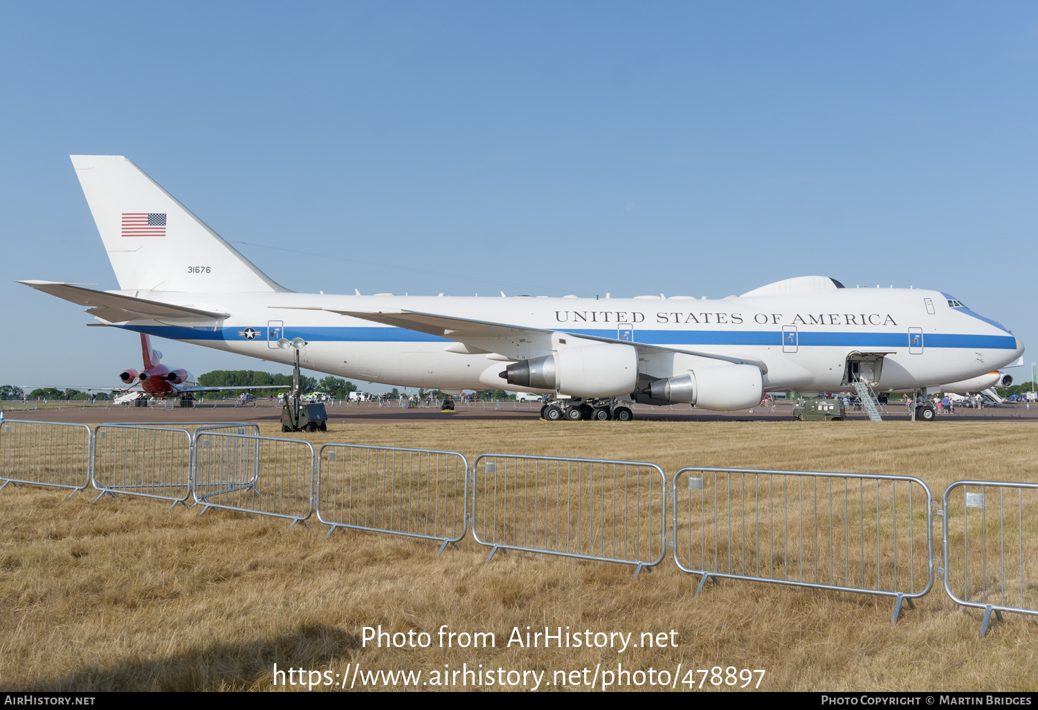
M359 318L365 321L373 321L375 323L382 323L389 326L395 326L398 328L407 328L408 330L416 330L420 333L428 333L430 335L439 335L440 337L445 337L450 340L457 340L464 344L466 338L475 337L501 337L501 336L518 336L526 334L528 336L544 336L550 335L552 332L566 333L568 335L573 335L574 337L584 338L586 340L598 340L600 343L616 343L620 345L630 345L638 349L639 353L643 354L653 354L653 353L684 353L686 355L696 355L699 357L706 357L712 360L723 360L725 362L734 362L736 364L749 364L755 367L760 367L761 372L767 374L768 367L764 362L752 357L742 357L739 355L717 355L714 353L703 353L694 350L684 350L680 348L664 348L656 345L649 345L646 343L637 343L631 340L621 340L616 337L601 337L599 335L585 335L583 333L575 333L567 330L546 330L543 328L529 328L526 326L516 326L509 325L507 323L491 323L487 321L473 321L469 319L456 318L453 316L439 316L436 313L421 313L415 310L336 310L334 308L325 308L324 310L329 310L334 313L339 313L342 316L350 316L351 318Z

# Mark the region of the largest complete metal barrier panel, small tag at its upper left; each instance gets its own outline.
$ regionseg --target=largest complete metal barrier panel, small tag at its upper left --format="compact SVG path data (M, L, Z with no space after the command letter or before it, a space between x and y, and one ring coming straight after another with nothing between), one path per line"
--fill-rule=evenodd
M673 491L674 561L703 575L696 596L710 577L881 595L893 624L933 586L932 497L913 476L690 466Z

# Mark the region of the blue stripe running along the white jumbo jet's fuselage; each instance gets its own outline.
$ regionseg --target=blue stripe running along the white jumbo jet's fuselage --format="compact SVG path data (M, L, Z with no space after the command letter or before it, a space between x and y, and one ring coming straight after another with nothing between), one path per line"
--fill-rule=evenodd
M135 332L147 333L173 340L227 340L247 342L239 331L247 326L234 328L181 328L177 326L116 326ZM253 326L258 332L255 340L267 339L266 326ZM569 330L578 335L617 337L614 329ZM294 328L285 326L285 337L301 337L313 343L452 343L449 338L419 333L406 328L360 327L360 328ZM635 338L646 345L665 346L782 346L781 331L759 330L635 330ZM907 348L908 333L855 333L855 332L811 332L799 331L797 345L837 346L846 348ZM923 346L926 348L981 348L984 350L1016 350L1016 338L1012 335L973 335L968 333L925 333Z

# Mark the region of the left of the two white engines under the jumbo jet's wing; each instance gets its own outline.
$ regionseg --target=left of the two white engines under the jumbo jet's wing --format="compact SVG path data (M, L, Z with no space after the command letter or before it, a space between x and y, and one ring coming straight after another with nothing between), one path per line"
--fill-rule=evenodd
M570 397L619 397L634 390L638 351L625 345L589 345L510 364L501 378L509 384L554 389Z

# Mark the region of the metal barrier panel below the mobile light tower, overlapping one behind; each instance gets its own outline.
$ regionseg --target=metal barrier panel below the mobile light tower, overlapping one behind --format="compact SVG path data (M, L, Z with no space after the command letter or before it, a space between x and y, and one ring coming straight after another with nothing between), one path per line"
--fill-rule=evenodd
M276 439L199 430L194 439L195 501L210 508L289 518L313 512L317 466L313 446Z

